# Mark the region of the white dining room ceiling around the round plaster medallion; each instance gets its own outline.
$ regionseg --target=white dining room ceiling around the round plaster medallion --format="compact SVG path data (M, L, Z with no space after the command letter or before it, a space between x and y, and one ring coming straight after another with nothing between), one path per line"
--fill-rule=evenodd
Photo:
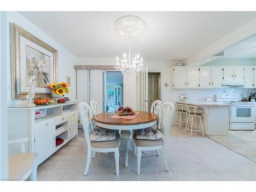
M195 54L255 17L255 12L19 12L77 57L115 57L128 38L115 20L137 15L146 31L132 38L132 53L146 61L179 61ZM27 29L29 30L29 29Z

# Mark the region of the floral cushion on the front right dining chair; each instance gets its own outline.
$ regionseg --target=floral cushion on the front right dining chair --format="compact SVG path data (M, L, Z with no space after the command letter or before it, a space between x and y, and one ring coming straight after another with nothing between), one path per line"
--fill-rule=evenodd
M137 130L137 139L145 139L145 140L157 140L161 139L163 134L157 130L153 129L153 127L147 127L145 129Z

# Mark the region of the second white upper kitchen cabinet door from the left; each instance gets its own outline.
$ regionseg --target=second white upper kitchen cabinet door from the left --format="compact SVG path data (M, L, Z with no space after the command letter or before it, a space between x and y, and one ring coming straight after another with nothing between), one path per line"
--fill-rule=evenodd
M199 68L187 67L187 88L200 87L200 73Z

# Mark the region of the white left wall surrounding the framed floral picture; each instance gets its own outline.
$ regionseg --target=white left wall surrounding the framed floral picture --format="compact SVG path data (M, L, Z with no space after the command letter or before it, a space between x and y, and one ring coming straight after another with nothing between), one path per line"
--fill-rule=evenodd
M29 31L39 39L45 41L47 44L58 50L58 81L66 82L66 76L71 77L70 94L68 96L71 99L76 98L76 71L74 65L77 63L77 57L70 53L68 50L59 45L54 39L37 28L34 24L29 22L25 17L17 12L6 12L6 18L3 19L4 27L2 28L3 36L6 38L5 45L3 47L7 50L7 103L8 105L18 105L24 102L24 100L12 100L11 99L11 52L10 52L10 23L14 22L18 26ZM47 22L47 21L46 21Z

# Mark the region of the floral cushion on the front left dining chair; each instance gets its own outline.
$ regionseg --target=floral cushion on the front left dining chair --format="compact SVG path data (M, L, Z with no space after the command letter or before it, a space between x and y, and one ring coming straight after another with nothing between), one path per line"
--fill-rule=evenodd
M112 141L116 138L116 130L108 130L103 127L96 126L91 134L91 141Z

